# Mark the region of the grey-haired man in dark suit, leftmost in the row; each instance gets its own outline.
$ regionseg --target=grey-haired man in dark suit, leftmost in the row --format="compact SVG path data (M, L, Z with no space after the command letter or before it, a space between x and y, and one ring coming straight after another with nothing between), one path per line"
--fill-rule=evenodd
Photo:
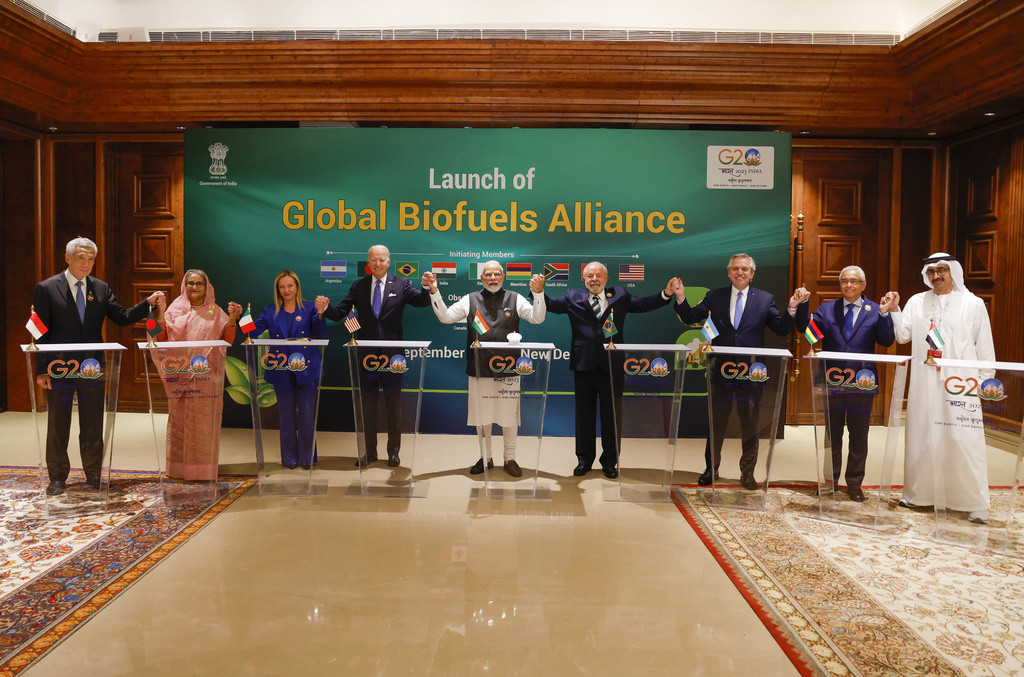
M154 292L143 301L125 308L118 303L105 282L90 277L96 262L96 245L87 238L76 238L65 248L68 269L36 286L33 304L48 331L41 343L101 343L103 319L127 327L144 319L164 293ZM79 447L85 482L99 489L103 464L103 396L105 378L54 378L48 367L63 353L40 353L36 361L36 383L46 390L46 469L48 496L65 493L71 460L68 442L71 438L71 414L78 395ZM74 353L79 362L84 355ZM102 353L93 355L100 364Z

